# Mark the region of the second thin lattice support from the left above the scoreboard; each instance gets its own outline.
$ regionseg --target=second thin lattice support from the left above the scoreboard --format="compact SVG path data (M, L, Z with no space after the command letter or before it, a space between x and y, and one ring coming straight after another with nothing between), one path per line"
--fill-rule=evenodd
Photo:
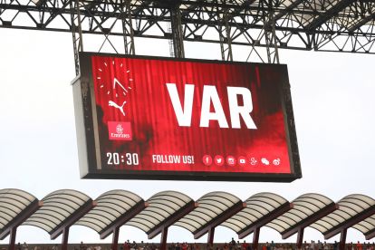
M133 20L131 16L130 0L125 1L125 10L122 19L122 33L124 37L125 54L135 54ZM128 40L128 36L130 41Z

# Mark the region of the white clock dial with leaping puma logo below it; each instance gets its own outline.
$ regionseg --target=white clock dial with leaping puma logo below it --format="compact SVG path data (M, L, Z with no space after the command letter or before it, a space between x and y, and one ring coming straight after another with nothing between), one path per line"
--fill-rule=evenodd
M117 63L111 60L110 63L102 63L96 70L98 90L101 91L101 94L110 96L108 106L113 107L120 111L123 116L126 116L124 111L124 106L127 103L126 98L133 90L133 79L131 78L130 69L126 68L124 63Z

